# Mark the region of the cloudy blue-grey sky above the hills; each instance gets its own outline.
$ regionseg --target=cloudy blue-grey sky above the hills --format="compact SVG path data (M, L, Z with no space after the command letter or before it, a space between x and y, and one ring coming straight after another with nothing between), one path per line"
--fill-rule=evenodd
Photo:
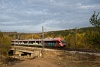
M41 32L92 26L100 0L0 0L0 31Z

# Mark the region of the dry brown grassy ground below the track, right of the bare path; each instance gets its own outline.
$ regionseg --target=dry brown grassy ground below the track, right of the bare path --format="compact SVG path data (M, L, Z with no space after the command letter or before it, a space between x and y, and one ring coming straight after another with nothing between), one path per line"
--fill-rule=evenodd
M69 52L46 52L45 58L52 58L52 62L60 67L100 67L100 57L89 54Z

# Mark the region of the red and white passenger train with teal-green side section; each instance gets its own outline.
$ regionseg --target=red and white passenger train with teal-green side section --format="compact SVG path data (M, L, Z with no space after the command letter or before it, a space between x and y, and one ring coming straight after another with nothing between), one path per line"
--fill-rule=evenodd
M40 46L40 47L66 47L67 43L62 38L12 40L11 45L16 46Z

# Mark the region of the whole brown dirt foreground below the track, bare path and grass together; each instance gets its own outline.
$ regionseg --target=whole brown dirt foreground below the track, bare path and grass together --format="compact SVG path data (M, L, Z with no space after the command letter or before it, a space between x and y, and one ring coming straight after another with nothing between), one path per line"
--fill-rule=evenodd
M45 51L44 57L16 61L3 67L100 67L100 57L65 51Z

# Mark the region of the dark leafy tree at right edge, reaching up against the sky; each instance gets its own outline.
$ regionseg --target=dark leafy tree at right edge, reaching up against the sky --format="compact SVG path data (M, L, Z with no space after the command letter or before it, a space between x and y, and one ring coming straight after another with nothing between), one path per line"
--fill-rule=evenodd
M94 31L94 36L91 34L91 43L93 46L96 46L96 48L100 48L100 15L99 12L96 14L94 11L94 14L89 19L90 23L96 27L97 31Z

